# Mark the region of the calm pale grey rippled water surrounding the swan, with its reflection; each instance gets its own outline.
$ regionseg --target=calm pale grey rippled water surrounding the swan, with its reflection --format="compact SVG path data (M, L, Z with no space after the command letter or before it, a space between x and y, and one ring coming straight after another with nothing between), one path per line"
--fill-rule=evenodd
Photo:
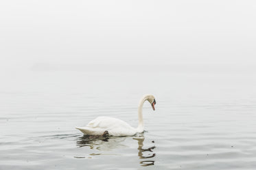
M0 169L255 169L255 72L31 71L0 91ZM95 139L111 116L146 132Z

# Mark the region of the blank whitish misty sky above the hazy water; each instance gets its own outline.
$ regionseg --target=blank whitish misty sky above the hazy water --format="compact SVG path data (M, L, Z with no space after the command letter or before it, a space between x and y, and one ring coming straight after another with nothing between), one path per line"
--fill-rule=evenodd
M256 1L1 1L0 71L256 63Z

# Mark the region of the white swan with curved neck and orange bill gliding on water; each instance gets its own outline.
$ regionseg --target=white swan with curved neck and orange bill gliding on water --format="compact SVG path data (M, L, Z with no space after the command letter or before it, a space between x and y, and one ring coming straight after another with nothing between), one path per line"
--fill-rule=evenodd
M150 102L152 109L154 109L154 104L156 104L156 100L154 99L154 96L147 94L144 95L140 102L139 102L139 108L138 108L138 119L139 119L139 125L137 128L133 128L126 122L124 122L121 119L116 119L114 117L105 117L100 116L96 119L93 119L89 124L87 124L84 127L75 127L78 130L80 130L84 134L89 135L104 135L108 133L110 136L132 136L136 133L141 133L144 131L144 123L143 123L143 115L142 115L142 107L143 103Z

